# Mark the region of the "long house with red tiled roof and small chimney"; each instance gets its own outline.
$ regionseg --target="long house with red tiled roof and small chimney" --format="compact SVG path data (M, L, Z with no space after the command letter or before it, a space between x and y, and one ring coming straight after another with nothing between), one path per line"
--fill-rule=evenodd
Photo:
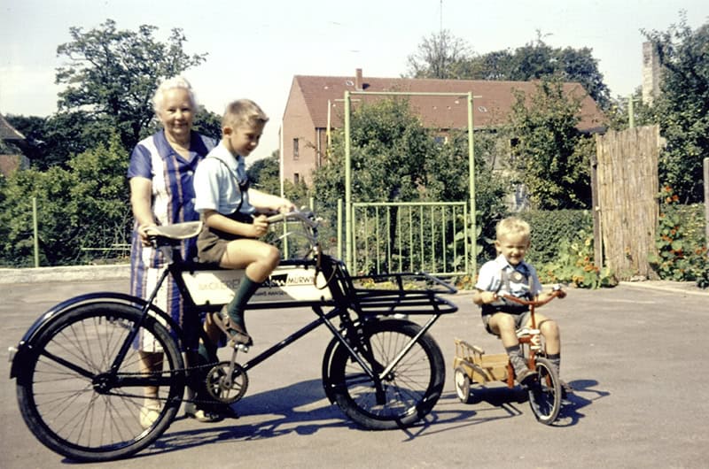
M410 96L409 104L428 128L445 132L467 128L467 95L473 97L473 128L495 128L508 119L515 90L530 96L534 81L432 80L364 77L362 69L354 76L293 77L281 127L281 156L284 180L312 181L312 173L323 165L327 155L328 130L343 127L345 91L460 93L460 96ZM568 96L581 99L579 130L603 132L605 118L596 102L579 83L564 83ZM357 99L377 96L352 96Z

